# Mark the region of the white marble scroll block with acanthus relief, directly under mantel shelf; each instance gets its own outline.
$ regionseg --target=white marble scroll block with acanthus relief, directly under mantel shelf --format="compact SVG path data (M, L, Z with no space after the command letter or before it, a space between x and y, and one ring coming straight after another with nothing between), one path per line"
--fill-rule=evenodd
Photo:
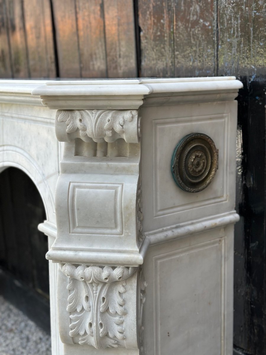
M63 142L75 138L114 142L123 138L127 143L138 143L138 110L57 110L56 135Z

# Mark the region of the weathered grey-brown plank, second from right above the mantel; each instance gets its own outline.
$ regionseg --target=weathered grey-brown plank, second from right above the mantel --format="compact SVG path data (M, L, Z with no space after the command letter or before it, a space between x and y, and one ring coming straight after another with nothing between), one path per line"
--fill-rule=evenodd
M174 76L215 75L216 1L173 1Z

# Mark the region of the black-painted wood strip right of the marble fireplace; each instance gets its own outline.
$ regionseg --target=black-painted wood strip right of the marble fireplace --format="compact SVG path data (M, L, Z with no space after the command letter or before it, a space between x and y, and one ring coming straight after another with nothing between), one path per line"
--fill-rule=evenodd
M238 96L235 225L234 344L246 354L266 354L266 76L240 78Z

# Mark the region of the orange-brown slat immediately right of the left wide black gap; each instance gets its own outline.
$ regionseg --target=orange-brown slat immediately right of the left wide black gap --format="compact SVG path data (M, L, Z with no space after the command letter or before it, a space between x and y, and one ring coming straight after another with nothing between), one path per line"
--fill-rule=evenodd
M59 76L81 77L75 0L52 0L55 21Z

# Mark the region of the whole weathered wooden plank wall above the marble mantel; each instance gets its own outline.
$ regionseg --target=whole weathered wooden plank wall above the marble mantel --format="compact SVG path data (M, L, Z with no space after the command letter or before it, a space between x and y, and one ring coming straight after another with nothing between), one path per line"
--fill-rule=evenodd
M260 0L0 0L0 77L265 73Z

